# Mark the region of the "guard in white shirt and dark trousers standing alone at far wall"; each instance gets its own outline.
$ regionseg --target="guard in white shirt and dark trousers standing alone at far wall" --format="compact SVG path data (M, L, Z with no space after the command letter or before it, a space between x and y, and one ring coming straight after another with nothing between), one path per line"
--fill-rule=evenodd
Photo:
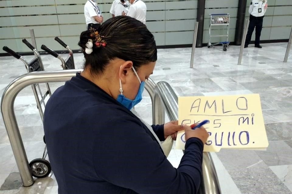
M255 47L262 48L259 45L259 38L262 32L262 21L268 7L268 0L252 0L249 6L249 30L246 35L244 48L249 46L252 38L252 32L255 29Z

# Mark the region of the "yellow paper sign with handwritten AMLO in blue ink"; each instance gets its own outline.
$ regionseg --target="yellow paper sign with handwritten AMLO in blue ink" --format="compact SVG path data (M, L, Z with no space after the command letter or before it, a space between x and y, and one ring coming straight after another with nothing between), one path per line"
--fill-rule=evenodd
M268 147L259 94L179 97L179 124L203 120L209 138L204 152L221 148L265 149ZM184 149L185 132L177 134L176 149Z

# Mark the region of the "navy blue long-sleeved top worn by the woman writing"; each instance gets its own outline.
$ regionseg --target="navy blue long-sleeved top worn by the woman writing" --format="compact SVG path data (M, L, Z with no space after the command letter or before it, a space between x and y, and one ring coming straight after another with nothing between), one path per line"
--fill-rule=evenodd
M163 127L152 126L160 140ZM147 127L80 74L50 97L44 131L59 194L194 194L200 185L200 139L186 141L174 168Z

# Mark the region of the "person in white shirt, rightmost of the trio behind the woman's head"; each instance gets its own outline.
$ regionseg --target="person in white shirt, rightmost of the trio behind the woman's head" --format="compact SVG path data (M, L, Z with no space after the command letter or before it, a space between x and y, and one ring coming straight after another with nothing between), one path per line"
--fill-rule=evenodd
M126 14L125 12L122 15L130 16L131 18L135 18L142 22L143 24L146 23L146 4L141 0L130 0L132 4L130 6L129 12Z

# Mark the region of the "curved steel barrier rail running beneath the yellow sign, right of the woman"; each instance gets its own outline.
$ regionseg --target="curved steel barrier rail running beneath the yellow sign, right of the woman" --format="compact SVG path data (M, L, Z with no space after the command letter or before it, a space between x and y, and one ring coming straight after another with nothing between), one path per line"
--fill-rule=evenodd
M158 82L154 89L154 107L155 110L161 108L161 102L165 107L170 120L178 120L178 97L167 82ZM154 113L157 113L156 111ZM155 122L153 124L162 124L158 115L154 114ZM203 153L203 173L199 188L200 194L221 194L217 173L209 152Z

